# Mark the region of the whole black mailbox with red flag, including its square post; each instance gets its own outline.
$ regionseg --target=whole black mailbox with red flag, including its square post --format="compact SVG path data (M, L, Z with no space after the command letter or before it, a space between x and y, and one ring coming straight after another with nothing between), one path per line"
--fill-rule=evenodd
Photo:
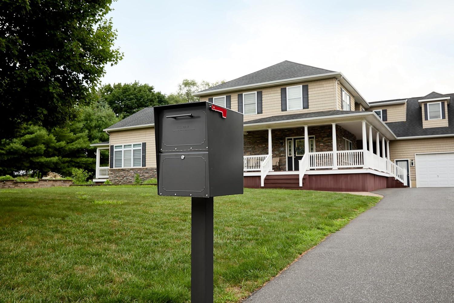
M243 115L208 102L154 107L158 195L191 197L191 302L213 302L213 197L243 193Z

